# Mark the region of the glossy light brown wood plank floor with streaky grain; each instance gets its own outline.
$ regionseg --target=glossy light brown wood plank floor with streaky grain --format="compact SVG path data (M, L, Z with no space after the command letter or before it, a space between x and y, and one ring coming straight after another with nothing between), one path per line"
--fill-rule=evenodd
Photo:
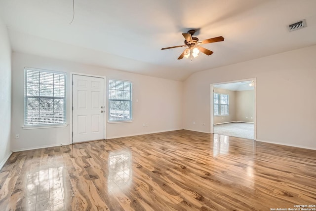
M186 130L15 152L0 211L270 211L316 204L316 151Z

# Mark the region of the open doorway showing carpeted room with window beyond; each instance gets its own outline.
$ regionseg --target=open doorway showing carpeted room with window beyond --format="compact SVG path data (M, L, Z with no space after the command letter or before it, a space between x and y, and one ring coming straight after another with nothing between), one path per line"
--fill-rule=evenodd
M211 84L211 133L256 140L256 78Z

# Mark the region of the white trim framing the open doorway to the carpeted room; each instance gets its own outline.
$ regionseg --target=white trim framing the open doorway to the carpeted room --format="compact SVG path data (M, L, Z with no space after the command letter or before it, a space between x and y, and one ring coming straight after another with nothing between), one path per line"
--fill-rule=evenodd
M234 80L234 81L226 81L226 82L220 82L220 83L212 83L210 84L210 131L211 134L214 133L214 86L215 85L220 85L220 84L226 84L226 83L236 83L236 82L243 82L243 81L249 81L249 80L253 80L254 85L253 85L253 94L254 94L254 114L253 114L253 140L256 141L257 140L257 106L256 106L256 92L257 92L257 86L256 86L256 78L246 78L246 79L241 79L241 80Z

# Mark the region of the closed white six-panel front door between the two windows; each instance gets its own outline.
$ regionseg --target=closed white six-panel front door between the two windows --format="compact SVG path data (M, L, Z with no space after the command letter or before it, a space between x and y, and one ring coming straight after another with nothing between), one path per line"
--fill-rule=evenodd
M104 78L73 75L73 143L104 139Z

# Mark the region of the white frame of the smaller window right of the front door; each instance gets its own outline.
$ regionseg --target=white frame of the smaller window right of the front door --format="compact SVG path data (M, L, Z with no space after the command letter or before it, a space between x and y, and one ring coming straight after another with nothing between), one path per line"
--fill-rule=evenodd
M110 98L110 92L111 92L111 88L110 88L110 81L118 81L118 82L126 82L129 83L129 100L125 100L125 99L111 99ZM121 79L114 79L114 78L109 78L108 80L109 82L109 86L108 86L108 122L109 123L119 123L119 122L132 122L133 121L133 116L132 116L132 81L128 81L128 80L121 80ZM111 119L111 101L126 101L129 102L129 119Z

